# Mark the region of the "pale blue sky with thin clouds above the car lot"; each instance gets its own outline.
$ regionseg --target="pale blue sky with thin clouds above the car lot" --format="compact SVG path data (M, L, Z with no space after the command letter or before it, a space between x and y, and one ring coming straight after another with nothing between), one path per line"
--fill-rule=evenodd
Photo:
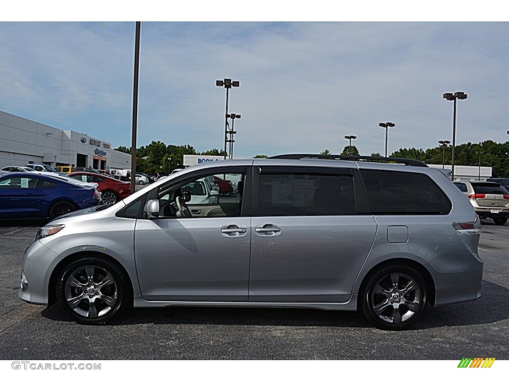
M222 148L225 90L235 157L427 149L509 137L506 22L142 22L138 146ZM134 22L0 22L0 110L130 146Z

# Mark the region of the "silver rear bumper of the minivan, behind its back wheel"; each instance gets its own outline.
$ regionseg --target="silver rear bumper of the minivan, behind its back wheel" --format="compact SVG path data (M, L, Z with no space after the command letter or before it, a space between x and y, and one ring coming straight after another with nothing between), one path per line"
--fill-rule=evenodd
M428 262L435 281L435 305L478 299L483 266L483 261L470 252L444 254Z

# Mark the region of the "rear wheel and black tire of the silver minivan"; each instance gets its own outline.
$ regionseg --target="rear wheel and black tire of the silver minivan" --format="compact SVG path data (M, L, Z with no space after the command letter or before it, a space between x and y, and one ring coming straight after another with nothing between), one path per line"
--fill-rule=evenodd
M399 292L394 292L394 282ZM427 304L426 281L415 268L387 265L375 271L361 287L361 310L375 327L387 330L409 328Z

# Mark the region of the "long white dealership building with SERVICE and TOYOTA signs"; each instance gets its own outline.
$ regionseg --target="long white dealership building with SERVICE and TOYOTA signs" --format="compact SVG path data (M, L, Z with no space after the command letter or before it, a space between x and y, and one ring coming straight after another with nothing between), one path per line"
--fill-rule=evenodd
M112 149L100 138L0 111L0 168L31 163L126 169L131 168L131 155Z

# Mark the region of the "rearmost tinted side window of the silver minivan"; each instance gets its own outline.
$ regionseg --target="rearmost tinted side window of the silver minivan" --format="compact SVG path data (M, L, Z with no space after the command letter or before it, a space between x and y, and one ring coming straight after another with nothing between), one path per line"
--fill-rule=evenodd
M447 214L452 207L443 190L427 175L361 170L373 214Z

